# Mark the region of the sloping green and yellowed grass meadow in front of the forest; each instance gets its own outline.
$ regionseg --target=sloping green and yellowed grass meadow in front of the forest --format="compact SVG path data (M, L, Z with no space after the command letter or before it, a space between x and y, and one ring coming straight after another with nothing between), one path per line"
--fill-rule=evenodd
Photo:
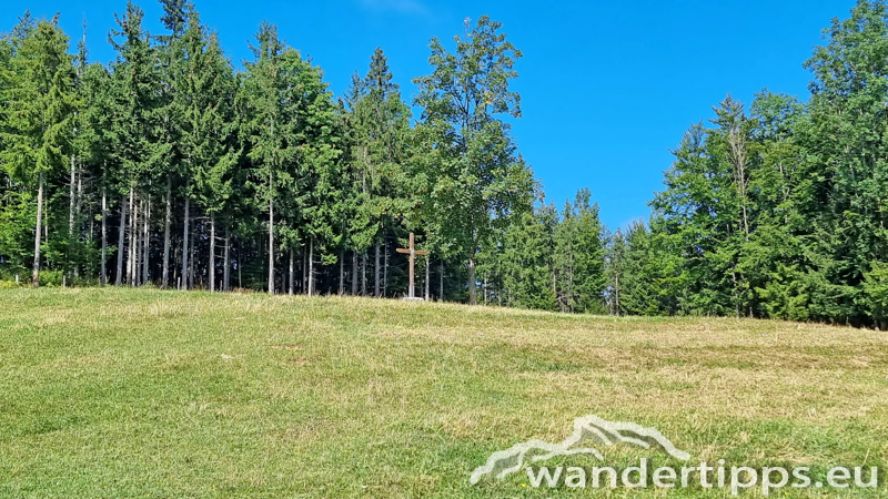
M0 304L0 497L663 497L468 483L588 414L656 427L694 464L888 466L879 332L153 289Z

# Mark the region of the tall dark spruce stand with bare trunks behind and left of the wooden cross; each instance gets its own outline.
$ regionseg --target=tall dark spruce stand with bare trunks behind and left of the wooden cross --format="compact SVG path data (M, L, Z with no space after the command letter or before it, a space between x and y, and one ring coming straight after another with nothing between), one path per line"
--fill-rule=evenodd
M430 253L426 297L537 303L522 291L528 261L513 227L542 189L511 135L522 54L501 23L466 21L453 51L432 40L414 118L381 49L336 96L273 24L235 69L192 3L161 4L159 34L133 2L115 16L108 65L84 42L71 50L58 16L26 13L2 37L7 285L394 297L406 289L395 248L415 232ZM562 236L577 255L589 237L602 246L584 203L565 212L584 218ZM564 307L579 293L583 307L601 302L594 286L565 286Z

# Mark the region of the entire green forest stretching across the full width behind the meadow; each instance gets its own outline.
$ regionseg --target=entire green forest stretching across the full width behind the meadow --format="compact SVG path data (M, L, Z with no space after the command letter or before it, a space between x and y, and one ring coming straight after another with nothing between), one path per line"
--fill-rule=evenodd
M58 18L0 39L0 286L397 297L415 232L430 299L888 326L885 0L825 31L807 101L728 95L690 126L650 220L613 233L587 189L543 202L500 23L433 39L407 102L381 49L337 96L273 24L235 68L161 3L162 33L117 16L109 65Z

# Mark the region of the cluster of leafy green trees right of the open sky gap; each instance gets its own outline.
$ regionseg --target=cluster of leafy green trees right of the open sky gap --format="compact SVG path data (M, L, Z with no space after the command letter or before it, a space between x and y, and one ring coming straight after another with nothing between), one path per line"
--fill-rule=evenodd
M888 6L824 40L807 102L728 96L685 133L649 223L612 242L622 313L888 326Z

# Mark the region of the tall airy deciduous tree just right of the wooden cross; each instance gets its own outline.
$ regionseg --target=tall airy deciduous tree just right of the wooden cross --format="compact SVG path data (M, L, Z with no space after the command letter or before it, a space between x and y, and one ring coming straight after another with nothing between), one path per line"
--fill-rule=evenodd
M466 20L466 37L454 39L455 53L433 38L434 70L414 80L420 86L414 104L423 108L420 133L430 149L441 151L434 163L421 163L432 169L424 172L421 220L442 231L441 246L468 258L472 303L476 253L529 205L535 190L503 119L521 116L521 98L508 85L522 53L501 28L486 16L474 27Z

